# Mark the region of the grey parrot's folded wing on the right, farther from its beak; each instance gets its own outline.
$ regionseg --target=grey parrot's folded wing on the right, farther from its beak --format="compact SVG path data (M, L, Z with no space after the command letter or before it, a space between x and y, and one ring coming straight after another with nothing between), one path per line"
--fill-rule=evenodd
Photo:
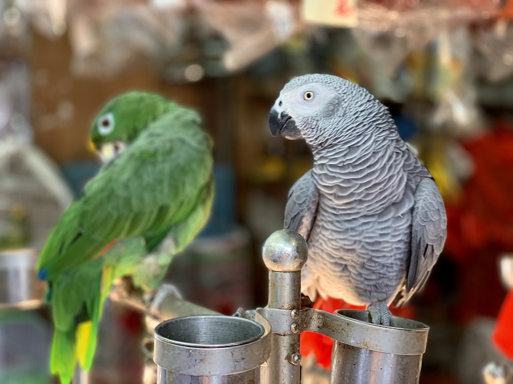
M447 237L444 203L431 178L422 179L417 186L411 221L411 256L406 292L400 304L408 301L413 293L422 288Z

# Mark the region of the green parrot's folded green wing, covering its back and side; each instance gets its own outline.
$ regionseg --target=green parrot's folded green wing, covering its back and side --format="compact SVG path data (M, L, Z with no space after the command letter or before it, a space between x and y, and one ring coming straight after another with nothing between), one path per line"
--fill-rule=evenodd
M185 220L211 184L211 146L191 110L177 106L151 123L65 212L41 252L40 276L54 279L112 241Z

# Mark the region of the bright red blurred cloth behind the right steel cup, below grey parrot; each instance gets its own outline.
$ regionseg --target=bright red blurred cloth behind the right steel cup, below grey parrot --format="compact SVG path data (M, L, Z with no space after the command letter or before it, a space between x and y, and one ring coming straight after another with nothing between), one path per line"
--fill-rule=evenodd
M313 305L314 309L320 309L329 313L334 313L338 309L360 309L364 310L365 306L347 304L342 299L328 297L324 300L318 297ZM413 318L415 315L412 307L404 305L399 308L390 308L393 315ZM308 356L313 353L317 359L317 363L324 369L329 369L331 365L331 349L333 348L333 340L327 336L315 332L301 333L301 354Z

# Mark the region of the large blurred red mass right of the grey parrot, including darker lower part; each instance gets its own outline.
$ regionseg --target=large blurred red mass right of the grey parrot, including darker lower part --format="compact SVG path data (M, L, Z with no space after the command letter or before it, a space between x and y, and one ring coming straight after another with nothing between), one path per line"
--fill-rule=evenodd
M504 299L497 268L513 250L513 126L497 120L478 138L462 142L474 166L457 202L446 202L444 253L458 264L456 319L495 317Z

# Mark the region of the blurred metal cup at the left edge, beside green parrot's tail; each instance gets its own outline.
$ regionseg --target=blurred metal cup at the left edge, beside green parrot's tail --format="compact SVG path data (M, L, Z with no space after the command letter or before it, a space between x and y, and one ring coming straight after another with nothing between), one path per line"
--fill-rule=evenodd
M43 304L46 283L37 278L37 257L31 248L0 252L0 310Z

